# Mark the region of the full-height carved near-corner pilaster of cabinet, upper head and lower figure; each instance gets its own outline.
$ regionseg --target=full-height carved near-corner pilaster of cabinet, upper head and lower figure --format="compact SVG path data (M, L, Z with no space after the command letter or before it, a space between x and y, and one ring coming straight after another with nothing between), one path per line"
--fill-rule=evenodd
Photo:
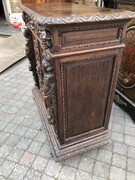
M53 62L50 57L46 54L46 49L51 49L52 47L52 38L51 32L47 27L39 26L39 38L42 40L43 45L43 96L48 111L47 120L50 124L54 125L55 128L55 119L56 119L56 80L55 72L53 68Z

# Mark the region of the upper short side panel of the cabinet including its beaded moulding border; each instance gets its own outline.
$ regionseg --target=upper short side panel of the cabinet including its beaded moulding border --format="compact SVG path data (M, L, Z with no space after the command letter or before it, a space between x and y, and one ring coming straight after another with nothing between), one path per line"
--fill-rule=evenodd
M59 39L53 51L68 52L94 49L107 45L119 45L122 41L122 23L89 24L87 26L62 27L58 29ZM99 30L100 29L100 30Z

